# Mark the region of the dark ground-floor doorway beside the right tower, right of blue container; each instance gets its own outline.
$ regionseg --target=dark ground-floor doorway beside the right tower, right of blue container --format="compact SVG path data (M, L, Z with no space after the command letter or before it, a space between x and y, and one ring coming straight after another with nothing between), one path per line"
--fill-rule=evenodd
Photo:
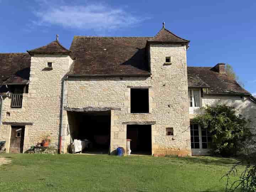
M131 154L151 155L151 125L127 125Z

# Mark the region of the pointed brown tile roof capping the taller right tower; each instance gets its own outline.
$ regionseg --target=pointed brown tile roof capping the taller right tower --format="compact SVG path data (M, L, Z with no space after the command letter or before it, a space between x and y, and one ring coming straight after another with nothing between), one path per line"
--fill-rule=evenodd
M166 28L162 28L155 37L150 38L149 42L181 42L181 43L189 43L190 41L186 39L182 39L176 36L174 33L170 32Z

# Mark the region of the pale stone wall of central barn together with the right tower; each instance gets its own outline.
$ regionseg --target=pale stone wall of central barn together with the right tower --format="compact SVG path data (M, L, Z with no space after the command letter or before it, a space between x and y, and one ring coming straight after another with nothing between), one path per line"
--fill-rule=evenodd
M174 57L173 63L165 65L165 57ZM154 121L152 154L191 155L186 46L151 45L150 60L149 78L69 77L66 105L121 108L111 111L111 151L126 148L127 122ZM130 113L130 87L146 86L150 86L149 113ZM167 127L174 128L174 136L166 135Z

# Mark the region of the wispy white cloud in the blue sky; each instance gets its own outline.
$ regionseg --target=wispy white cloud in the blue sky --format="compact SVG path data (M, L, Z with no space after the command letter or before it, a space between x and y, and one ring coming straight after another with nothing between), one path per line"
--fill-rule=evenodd
M62 4L64 4L62 2ZM47 0L39 1L40 9L34 11L38 17L33 25L60 25L67 28L94 29L96 31L130 27L144 19L131 15L122 8L103 4L54 5Z

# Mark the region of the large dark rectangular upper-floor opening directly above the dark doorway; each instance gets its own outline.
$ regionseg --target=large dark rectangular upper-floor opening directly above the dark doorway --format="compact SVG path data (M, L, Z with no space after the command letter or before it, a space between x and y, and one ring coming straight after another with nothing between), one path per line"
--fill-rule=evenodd
M130 89L131 113L149 113L149 90Z

